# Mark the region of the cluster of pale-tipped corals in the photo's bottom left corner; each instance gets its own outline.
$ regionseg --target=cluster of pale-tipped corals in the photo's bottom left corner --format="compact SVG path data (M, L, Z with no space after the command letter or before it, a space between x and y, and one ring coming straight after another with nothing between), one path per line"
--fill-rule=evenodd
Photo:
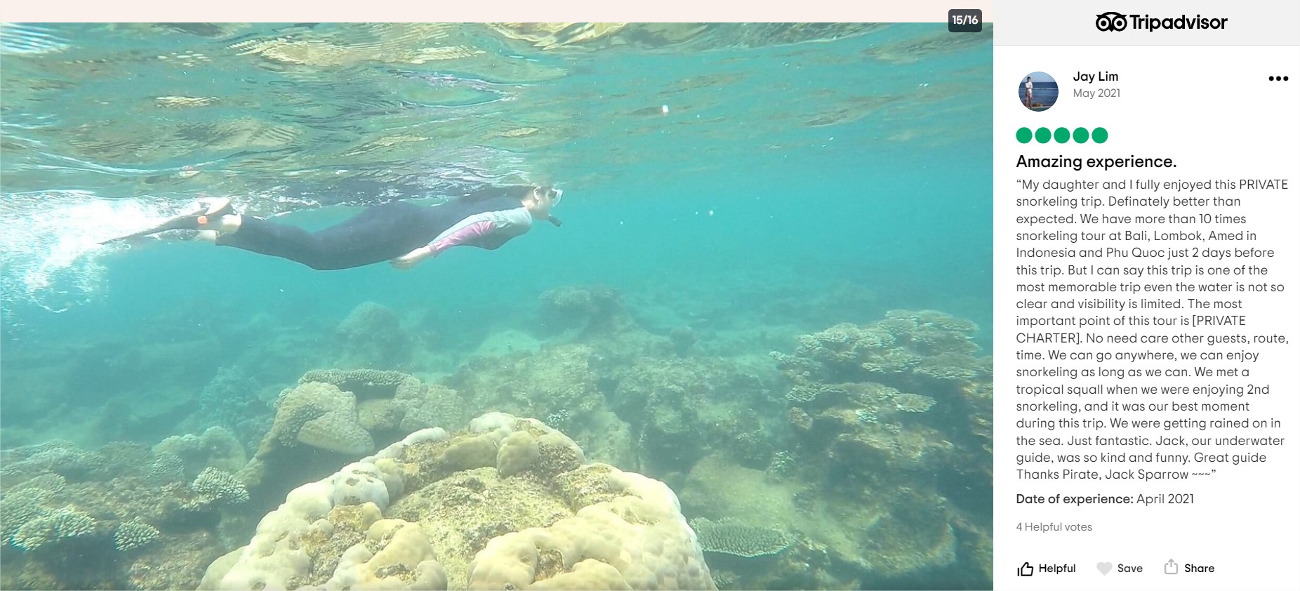
M221 508L186 486L174 453L53 443L5 456L0 588L192 588L222 552Z

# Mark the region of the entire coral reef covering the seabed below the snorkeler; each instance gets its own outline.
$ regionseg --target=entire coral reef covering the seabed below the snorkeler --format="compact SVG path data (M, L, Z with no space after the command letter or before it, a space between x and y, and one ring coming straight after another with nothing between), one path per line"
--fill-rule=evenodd
M727 316L734 297L651 334L614 290L555 290L550 339L490 329L459 366L360 351L400 326L358 308L342 360L217 370L181 422L217 423L200 434L0 452L0 588L194 588L204 569L204 588L987 585L975 326L893 310L796 338L828 325ZM796 307L762 309L780 305ZM783 339L793 351L763 355ZM290 387L272 405L260 383ZM511 414L471 421L488 409Z

